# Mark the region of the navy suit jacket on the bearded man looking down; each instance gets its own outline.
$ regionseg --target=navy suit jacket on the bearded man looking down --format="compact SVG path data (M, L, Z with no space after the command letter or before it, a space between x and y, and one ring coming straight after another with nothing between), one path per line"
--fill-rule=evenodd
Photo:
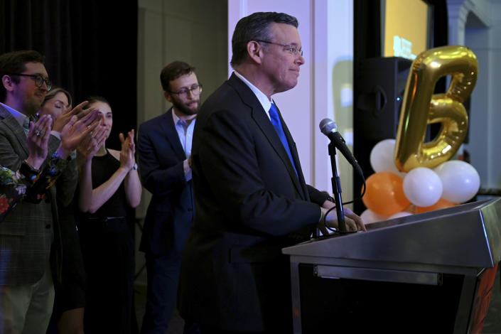
M139 249L146 254L181 257L194 202L192 181L186 182L183 146L172 109L139 126L137 147L141 179L153 197L146 212Z

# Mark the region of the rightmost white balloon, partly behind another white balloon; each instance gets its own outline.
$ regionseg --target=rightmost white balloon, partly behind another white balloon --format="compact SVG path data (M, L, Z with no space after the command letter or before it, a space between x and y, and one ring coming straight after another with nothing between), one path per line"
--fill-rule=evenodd
M441 163L435 172L442 181L442 198L452 203L464 203L475 196L480 188L480 176L470 163L450 160Z

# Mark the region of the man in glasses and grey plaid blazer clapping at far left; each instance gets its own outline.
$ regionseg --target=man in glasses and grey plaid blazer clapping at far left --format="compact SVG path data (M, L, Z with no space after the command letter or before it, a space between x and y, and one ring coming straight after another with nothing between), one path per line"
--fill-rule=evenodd
M67 159L99 124L92 112L77 121L85 103L57 117L52 131L52 122L43 128L41 121L30 124L50 90L43 62L43 55L33 50L0 55L0 166L28 168L35 176L47 166L50 173L57 171L55 161ZM44 145L36 144L47 136ZM38 146L34 155L33 146ZM71 198L75 187L76 175L58 195ZM45 188L38 200L24 198L0 222L0 333L45 333L48 326L53 279L60 280L64 254L55 198L55 187Z

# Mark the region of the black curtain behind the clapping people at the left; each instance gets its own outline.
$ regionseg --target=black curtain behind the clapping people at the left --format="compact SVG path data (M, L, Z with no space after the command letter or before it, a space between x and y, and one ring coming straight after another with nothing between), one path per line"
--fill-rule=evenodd
M119 149L118 134L136 129L137 14L137 0L0 0L0 53L38 50L74 105L108 99L107 146Z

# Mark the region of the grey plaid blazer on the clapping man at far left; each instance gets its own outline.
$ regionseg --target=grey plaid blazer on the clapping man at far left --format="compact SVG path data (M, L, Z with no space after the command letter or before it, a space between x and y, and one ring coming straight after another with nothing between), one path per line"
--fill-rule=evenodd
M48 156L59 144L59 139L50 136ZM17 171L26 158L26 134L11 113L0 106L0 165ZM47 200L41 203L19 202L0 223L0 285L33 284L41 279L53 239L60 242L57 207L50 198L55 198L55 187L50 188Z

